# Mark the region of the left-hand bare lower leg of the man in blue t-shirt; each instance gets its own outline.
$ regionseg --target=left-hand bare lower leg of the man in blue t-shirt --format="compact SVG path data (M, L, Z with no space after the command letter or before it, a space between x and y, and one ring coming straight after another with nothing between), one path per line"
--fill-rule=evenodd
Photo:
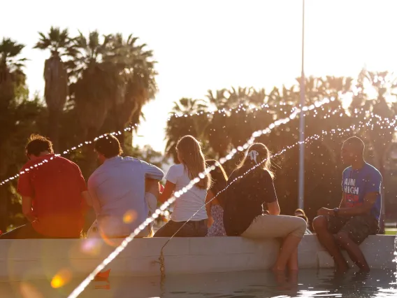
M317 233L319 242L322 243L322 246L324 246L331 257L333 257L338 271L347 271L349 266L347 266L347 262L338 248L333 234L328 230L326 218L324 216L317 216L317 218L313 220L313 228Z

